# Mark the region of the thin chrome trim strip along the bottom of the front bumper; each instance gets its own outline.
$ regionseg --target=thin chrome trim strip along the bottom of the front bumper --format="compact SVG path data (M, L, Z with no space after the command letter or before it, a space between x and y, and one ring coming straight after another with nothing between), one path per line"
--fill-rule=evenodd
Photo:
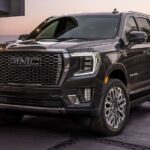
M34 107L34 106L21 106L0 103L0 109L4 110L20 110L20 111L34 111L34 112L47 112L47 113L66 113L65 108L49 108L49 107Z

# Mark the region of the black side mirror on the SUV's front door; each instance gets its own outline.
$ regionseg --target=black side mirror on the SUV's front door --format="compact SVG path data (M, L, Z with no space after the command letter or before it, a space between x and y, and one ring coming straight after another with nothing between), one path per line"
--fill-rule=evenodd
M130 43L140 44L146 42L147 39L148 39L148 35L143 31L132 31L129 33Z

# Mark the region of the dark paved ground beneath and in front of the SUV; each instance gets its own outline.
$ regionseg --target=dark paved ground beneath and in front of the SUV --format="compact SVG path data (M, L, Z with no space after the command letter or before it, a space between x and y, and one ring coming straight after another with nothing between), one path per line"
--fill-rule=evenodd
M69 119L26 117L19 127L0 127L0 150L150 150L150 102L132 110L124 132L112 138Z

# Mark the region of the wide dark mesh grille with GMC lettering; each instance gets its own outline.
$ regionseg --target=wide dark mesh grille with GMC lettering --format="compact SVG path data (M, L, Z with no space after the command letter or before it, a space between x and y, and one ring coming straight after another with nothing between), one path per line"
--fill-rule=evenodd
M32 62L27 62L28 59ZM0 83L58 85L62 69L61 53L24 51L0 53Z

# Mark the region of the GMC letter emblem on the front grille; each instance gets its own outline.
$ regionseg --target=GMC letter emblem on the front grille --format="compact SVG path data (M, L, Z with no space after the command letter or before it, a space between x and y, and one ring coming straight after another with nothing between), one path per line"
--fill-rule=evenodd
M39 57L12 57L10 59L11 65L19 66L37 66L40 65L41 58Z

